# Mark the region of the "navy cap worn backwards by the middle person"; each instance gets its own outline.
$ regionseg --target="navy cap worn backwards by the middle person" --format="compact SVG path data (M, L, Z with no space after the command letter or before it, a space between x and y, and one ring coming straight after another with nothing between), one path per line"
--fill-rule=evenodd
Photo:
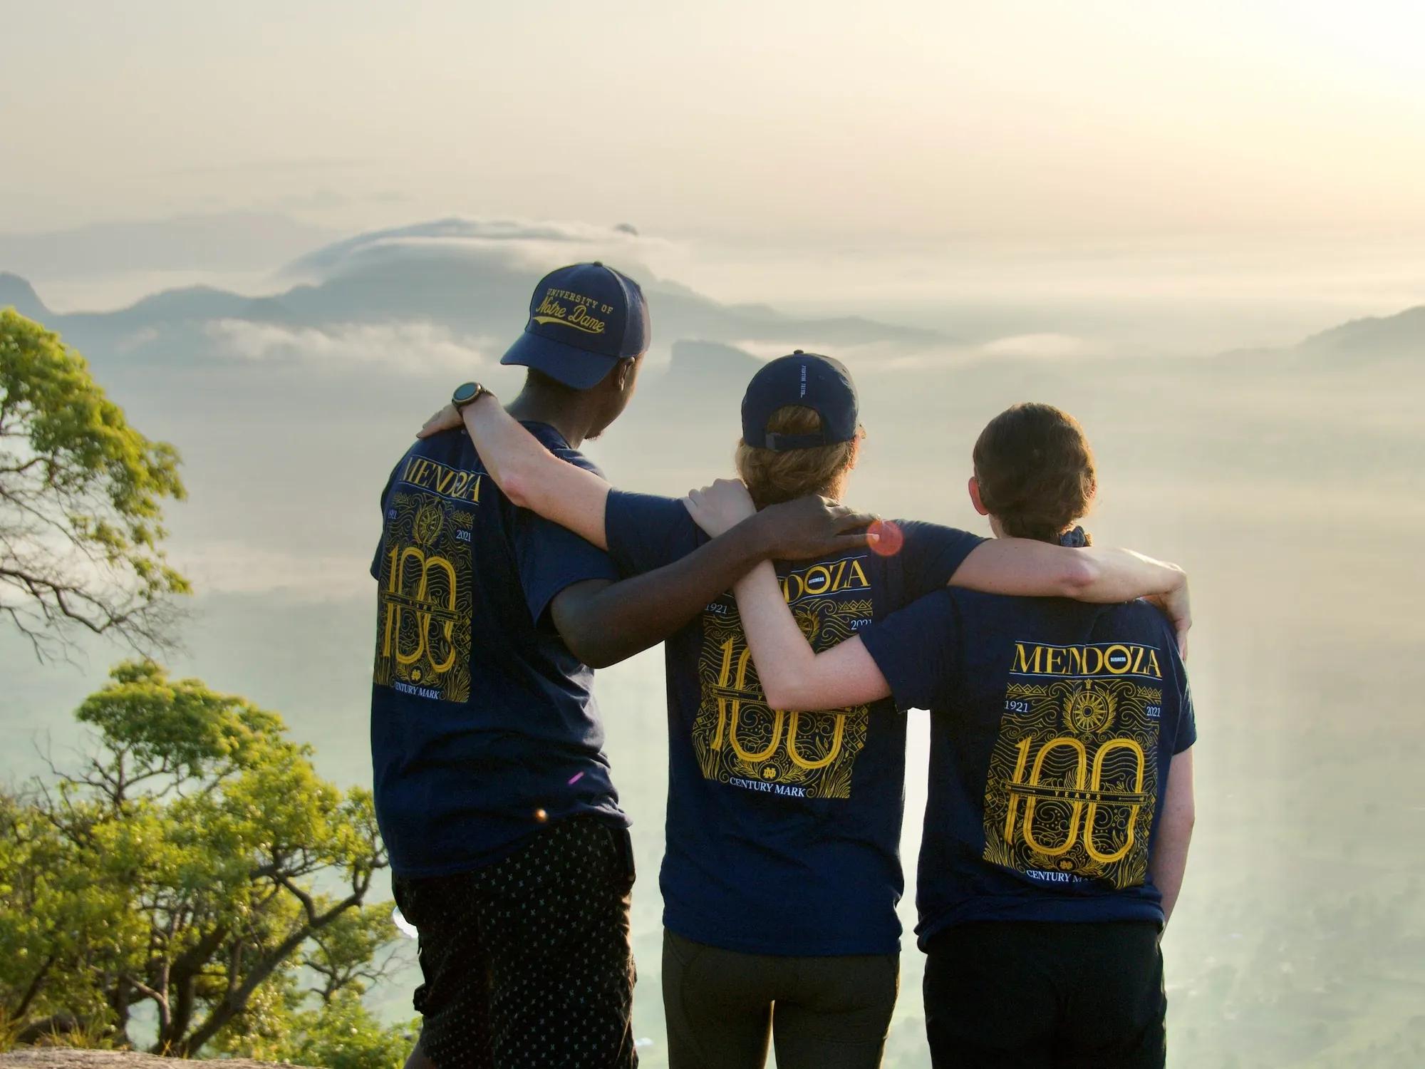
M767 422L787 405L804 405L821 416L821 430L809 435L768 433ZM811 449L849 442L856 436L856 385L841 361L798 349L765 363L742 396L742 440L755 449Z

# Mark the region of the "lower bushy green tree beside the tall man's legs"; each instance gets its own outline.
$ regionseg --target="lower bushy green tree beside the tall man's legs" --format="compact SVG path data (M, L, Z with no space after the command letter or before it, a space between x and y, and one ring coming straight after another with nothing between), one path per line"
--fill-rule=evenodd
M158 1053L345 1043L342 1065L390 1065L406 1040L359 998L392 964L370 794L319 778L274 713L151 661L76 716L87 763L0 795L0 1016L20 1039L128 1042L150 1003Z

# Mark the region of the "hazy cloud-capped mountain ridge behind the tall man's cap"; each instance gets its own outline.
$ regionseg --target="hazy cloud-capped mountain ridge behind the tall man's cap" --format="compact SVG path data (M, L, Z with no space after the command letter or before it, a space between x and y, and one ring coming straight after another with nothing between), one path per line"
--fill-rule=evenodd
M208 326L238 321L292 332L390 322L433 324L459 338L503 344L524 328L524 309L551 265L606 257L643 281L653 311L654 353L677 342L718 345L891 344L945 345L936 331L861 316L798 318L765 305L720 304L638 262L641 239L627 229L560 228L516 222L436 220L359 234L294 261L284 274L304 277L281 292L245 296L211 286L151 294L111 312L56 314L17 275L0 278L0 304L43 318L93 358L128 363L221 358ZM661 359L661 356L660 356Z

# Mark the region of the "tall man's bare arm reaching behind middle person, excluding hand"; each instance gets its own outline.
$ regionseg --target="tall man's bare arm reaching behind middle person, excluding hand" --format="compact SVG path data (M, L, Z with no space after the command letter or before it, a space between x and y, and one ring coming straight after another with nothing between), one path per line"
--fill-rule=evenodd
M752 517L671 564L601 589L579 604L577 619L556 623L586 664L616 664L678 631L770 552Z

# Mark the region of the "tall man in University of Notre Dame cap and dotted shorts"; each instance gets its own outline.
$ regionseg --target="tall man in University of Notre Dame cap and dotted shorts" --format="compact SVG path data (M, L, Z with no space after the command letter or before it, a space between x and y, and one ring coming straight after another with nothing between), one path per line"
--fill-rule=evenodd
M624 410L647 344L633 279L551 272L503 361L529 368L512 426L596 477L577 446ZM452 403L484 393L466 383ZM778 532L742 525L614 584L601 549L500 493L463 430L406 452L382 513L370 740L393 891L420 938L409 1065L634 1065L633 851L593 667L660 641L774 552L864 543L841 532L869 517L788 509Z

